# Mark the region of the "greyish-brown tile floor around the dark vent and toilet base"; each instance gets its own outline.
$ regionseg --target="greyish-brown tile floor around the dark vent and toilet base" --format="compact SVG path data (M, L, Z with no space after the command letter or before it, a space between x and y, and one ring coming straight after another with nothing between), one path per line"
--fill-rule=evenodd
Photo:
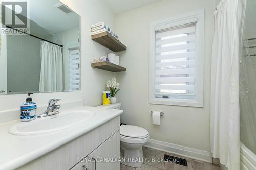
M135 170L135 169L141 169L141 170L221 170L219 165L211 164L211 163L205 163L200 162L197 160L185 158L182 156L177 156L170 153L165 153L162 151L145 148L143 147L143 154L144 157L147 158L146 162L143 163L141 168L133 168L129 166L125 166L123 164L120 164L120 170ZM179 158L183 158L187 160L187 167L178 165L171 162L161 162L161 161L155 161L152 162L152 158L164 158L164 154L176 156Z

